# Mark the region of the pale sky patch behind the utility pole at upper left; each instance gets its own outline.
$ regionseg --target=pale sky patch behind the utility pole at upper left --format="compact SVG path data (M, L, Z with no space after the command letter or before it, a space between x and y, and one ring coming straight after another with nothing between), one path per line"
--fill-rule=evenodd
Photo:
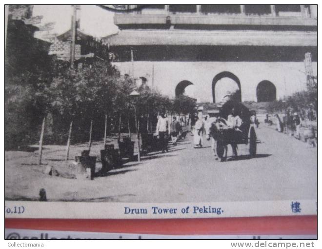
M62 34L71 26L71 5L34 5L33 16L43 16L41 25L55 22L54 29L50 33ZM114 13L96 5L80 5L77 19L80 19L80 29L94 37L104 37L118 32L114 25Z

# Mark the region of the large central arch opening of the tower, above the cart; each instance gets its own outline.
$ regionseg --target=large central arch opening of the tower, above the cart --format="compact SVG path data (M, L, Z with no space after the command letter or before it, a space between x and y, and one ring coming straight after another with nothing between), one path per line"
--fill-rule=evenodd
M213 103L221 102L226 96L241 102L241 82L231 72L221 72L212 81Z

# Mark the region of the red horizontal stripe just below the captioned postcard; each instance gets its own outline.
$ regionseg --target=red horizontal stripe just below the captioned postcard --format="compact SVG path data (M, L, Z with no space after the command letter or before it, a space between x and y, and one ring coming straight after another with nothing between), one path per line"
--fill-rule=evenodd
M209 219L5 219L5 228L141 234L317 234L318 219L310 216Z

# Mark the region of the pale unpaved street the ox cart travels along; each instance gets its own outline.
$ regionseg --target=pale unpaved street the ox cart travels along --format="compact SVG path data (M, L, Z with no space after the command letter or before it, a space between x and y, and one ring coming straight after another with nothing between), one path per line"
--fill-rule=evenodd
M219 202L317 198L317 149L262 126L256 129L257 157L248 159L248 146L239 145L236 161L214 160L210 142L194 149L190 134L168 153L150 153L124 164L107 176L90 180L48 176L36 165L36 152L6 153L5 198L37 200L45 188L49 201L96 202ZM99 156L102 143L91 154ZM45 146L44 163L71 167L61 160L64 146ZM71 158L85 145L74 145ZM231 155L228 148L228 156ZM15 156L13 156L15 155ZM98 160L99 161L99 160ZM101 162L97 162L97 168ZM17 174L17 172L20 172Z

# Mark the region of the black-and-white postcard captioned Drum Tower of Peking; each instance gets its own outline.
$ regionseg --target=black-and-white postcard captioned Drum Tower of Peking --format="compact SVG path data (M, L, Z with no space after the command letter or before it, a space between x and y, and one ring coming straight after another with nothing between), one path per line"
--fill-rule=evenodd
M317 214L317 5L5 5L5 217Z

